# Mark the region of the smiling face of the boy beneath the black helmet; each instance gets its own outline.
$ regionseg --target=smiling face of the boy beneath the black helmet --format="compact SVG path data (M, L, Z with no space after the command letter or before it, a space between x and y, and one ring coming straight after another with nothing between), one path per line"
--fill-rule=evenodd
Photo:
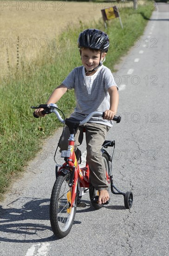
M92 51L89 48L81 49L82 64L85 67L86 71L91 71L93 68L98 67L100 62L100 53L100 51ZM102 54L101 60L104 59L105 55L106 53Z

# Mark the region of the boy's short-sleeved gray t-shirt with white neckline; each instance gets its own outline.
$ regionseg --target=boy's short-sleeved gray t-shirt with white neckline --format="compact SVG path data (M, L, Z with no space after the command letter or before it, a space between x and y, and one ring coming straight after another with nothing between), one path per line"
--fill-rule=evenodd
M110 109L108 89L112 86L117 87L110 69L104 65L91 76L85 75L83 66L75 67L62 84L68 89L74 89L76 108L71 117L80 121L93 111L104 112ZM113 124L112 121L104 120L102 117L92 117L89 122L102 123L110 127Z

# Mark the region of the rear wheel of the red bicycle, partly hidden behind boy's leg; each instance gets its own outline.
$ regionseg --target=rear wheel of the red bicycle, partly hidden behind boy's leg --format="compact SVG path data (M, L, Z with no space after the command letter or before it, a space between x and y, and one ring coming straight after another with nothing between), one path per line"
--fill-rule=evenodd
M110 174L109 158L108 158L108 156L105 153L102 154L102 157L103 157L103 161L104 161L104 168L106 169L106 172L109 175ZM101 209L104 206L103 204L93 203L92 202L93 198L96 195L98 195L98 191L92 185L90 185L90 188L89 188L89 195L90 195L91 204L94 207L94 209L99 210L99 209Z

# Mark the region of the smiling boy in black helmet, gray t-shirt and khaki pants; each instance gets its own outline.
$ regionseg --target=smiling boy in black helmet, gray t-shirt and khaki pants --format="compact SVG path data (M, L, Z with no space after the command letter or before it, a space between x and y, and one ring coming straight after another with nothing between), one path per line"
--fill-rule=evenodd
M83 66L74 68L61 85L56 88L46 104L56 103L67 89L74 88L76 108L71 114L79 121L93 111L104 112L104 118L92 117L84 126L79 127L75 135L77 159L81 152L77 148L83 140L83 128L86 131L87 162L90 166L91 184L99 191L98 203L109 200L108 183L103 169L101 148L105 136L112 126L112 119L117 112L118 88L109 68L102 65L109 48L107 34L97 29L86 29L79 34L78 47ZM37 109L36 115L42 115L43 109ZM70 134L65 128L59 144L60 150L67 150ZM76 149L77 148L77 149Z

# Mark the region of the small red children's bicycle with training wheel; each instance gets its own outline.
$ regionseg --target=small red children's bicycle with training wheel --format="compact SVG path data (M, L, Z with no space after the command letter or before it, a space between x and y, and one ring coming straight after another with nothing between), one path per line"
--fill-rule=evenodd
M68 149L61 152L61 157L64 158L65 162L62 165L56 164L56 181L53 185L50 201L50 222L52 231L58 238L63 238L67 236L71 231L71 227L76 214L77 204L81 201L81 198L85 193L89 191L91 204L94 209L100 209L104 206L104 204L109 203L106 202L104 204L98 204L98 191L90 184L89 181L89 165L86 162L85 167L80 168L74 152L74 135L78 126L88 122L92 116L103 116L104 113L92 112L84 119L84 121L75 121L71 118L65 119L65 117L64 119L62 119L62 117L58 113L58 111L61 110L57 107L56 104L41 104L38 107L31 108L44 108L44 110L42 111L43 115L54 113L60 122L66 124L69 127L71 133L68 143ZM61 113L63 114L62 111ZM33 115L36 118L39 117L34 113ZM118 123L120 122L121 117L114 116L113 120ZM108 147L113 147L113 153L111 156L104 149ZM104 141L101 148L107 181L110 184L111 192L113 194L123 195L124 206L126 209L130 209L133 204L132 192L121 192L113 184L113 176L111 174L111 171L114 149L115 141Z

